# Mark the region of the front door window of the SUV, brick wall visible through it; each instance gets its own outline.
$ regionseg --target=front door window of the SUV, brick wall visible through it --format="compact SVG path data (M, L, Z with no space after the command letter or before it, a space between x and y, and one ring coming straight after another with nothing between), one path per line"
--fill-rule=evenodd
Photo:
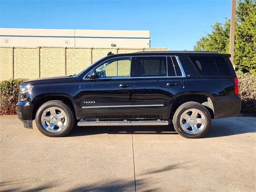
M98 78L130 77L131 58L114 58L96 68Z

